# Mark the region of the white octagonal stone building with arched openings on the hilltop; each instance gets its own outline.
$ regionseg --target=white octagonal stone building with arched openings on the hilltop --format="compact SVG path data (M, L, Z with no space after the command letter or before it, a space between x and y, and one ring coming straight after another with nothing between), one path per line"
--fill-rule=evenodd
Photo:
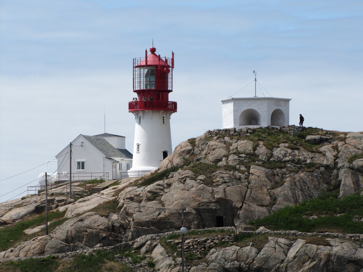
M222 102L223 128L289 125L289 98L229 98Z

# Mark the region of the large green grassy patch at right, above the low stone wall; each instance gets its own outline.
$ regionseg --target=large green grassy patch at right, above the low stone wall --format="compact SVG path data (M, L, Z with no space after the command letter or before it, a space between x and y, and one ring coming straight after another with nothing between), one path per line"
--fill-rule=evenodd
M339 199L338 195L338 190L323 193L320 197L285 207L251 223L256 228L265 226L271 230L363 233L363 222L353 221L355 215L363 217L363 198L354 194ZM306 218L312 215L318 218Z

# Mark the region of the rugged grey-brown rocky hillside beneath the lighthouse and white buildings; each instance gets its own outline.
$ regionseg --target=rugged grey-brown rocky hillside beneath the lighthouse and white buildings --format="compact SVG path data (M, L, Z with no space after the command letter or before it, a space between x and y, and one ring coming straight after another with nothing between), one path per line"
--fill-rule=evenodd
M216 129L180 143L153 172L119 183L77 201L62 195L61 190L54 191L59 196L52 199L53 210L65 212L66 221L48 236L36 236L0 252L0 258L60 254L135 241L179 228L182 209L188 229L230 226L245 230L256 218L315 198L323 191L339 188L340 197L357 193L363 189L363 132L301 131L291 126ZM42 212L42 201L44 193L1 203L0 222L8 224ZM114 210L105 206L108 202L116 203ZM309 246L275 237L266 243L265 250L234 245L210 251L191 271L247 271L250 267L258 271L325 271L321 269L334 267L331 262L338 253L332 252L350 247L357 247L351 255L359 259L352 267L363 267L359 245L334 241L329 246ZM164 252L161 246L154 249L156 244L154 241L150 250L145 250L152 252L154 259ZM311 265L297 264L307 258L303 254L311 255ZM164 255L163 260L168 258ZM274 268L275 257L280 260L278 269ZM228 265L221 263L226 258ZM324 264L311 270L322 258ZM160 263L163 271L170 271L169 266ZM331 271L343 271L334 269ZM349 269L346 271L355 271Z

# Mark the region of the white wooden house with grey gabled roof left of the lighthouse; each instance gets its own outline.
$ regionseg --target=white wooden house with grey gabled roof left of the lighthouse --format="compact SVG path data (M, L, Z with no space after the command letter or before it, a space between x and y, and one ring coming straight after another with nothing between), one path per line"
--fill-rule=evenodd
M121 173L132 167L132 154L125 148L124 136L103 133L80 134L72 141L72 180L121 179ZM69 145L56 156L58 181L69 180Z

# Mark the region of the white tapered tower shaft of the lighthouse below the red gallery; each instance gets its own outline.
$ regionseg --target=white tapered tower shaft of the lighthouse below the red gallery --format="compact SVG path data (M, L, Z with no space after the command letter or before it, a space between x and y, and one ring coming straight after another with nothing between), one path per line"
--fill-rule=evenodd
M159 167L165 156L172 153L170 115L171 111L135 112L135 140L132 168L129 176L145 174Z

